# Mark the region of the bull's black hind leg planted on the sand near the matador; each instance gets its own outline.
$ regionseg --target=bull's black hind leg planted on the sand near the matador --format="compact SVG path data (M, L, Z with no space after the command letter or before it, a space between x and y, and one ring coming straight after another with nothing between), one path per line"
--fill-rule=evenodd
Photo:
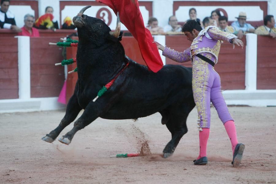
M186 125L187 116L188 114L182 114L182 116L172 115L170 121L167 122L166 126L171 132L172 139L163 150L164 158L168 158L174 153L180 139L188 132Z

